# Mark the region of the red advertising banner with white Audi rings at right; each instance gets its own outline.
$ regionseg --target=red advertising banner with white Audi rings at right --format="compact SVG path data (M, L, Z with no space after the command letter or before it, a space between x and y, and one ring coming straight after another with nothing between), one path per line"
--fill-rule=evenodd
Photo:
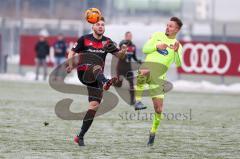
M181 42L180 74L240 76L240 43Z

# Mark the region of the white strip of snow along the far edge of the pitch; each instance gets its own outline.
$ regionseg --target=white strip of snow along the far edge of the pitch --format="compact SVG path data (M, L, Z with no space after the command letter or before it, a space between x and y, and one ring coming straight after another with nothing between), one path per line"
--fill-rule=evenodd
M21 81L21 82L34 82L35 73L27 72L24 76L19 74L0 74L0 80L8 81ZM43 81L43 76L39 76L39 82ZM48 82L48 80L46 81ZM77 78L76 72L70 74L66 79L66 83L81 84ZM209 81L187 81L187 80L177 80L173 83L173 91L178 92L204 92L204 93L240 93L240 83L224 85L224 84L214 84Z

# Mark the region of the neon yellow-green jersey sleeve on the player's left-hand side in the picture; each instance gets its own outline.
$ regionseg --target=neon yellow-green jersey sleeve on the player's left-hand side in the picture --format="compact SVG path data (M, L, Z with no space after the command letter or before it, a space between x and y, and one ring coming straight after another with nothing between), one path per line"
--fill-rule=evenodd
M157 37L158 37L158 33L154 33L152 37L144 44L142 49L144 54L150 54L154 51L157 51L157 47L156 47L158 43Z

